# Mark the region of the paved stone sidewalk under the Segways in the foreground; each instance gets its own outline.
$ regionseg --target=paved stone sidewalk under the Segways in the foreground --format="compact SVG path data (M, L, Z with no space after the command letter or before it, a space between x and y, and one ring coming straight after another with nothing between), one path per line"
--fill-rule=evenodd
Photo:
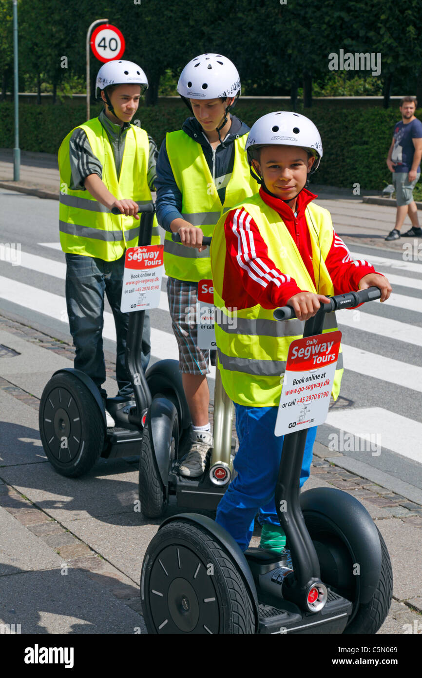
M51 372L71 365L69 344L0 317L0 624L20 624L21 633L146 633L140 571L161 520L138 511L138 460L103 460L68 479L41 447L39 397ZM345 470L347 459L319 443L314 453L306 489L356 496L387 543L394 601L379 633L422 631L422 498ZM167 515L177 512L172 500ZM259 528L254 546L258 539Z

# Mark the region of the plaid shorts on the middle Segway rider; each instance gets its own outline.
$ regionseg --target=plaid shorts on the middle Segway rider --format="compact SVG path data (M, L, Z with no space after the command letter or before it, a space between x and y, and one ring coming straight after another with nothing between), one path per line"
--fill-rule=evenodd
M196 346L196 301L198 283L185 282L176 278L167 279L167 296L171 315L171 326L179 346L180 372L188 374L209 374L209 351Z

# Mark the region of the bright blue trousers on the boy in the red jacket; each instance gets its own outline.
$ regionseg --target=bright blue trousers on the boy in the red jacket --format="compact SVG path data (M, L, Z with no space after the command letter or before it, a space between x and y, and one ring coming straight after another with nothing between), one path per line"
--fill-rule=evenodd
M274 435L278 407L247 407L237 403L234 407L239 439L234 458L237 476L218 504L216 521L245 551L251 541L256 514L261 525L280 525L274 492L284 436ZM300 487L310 475L316 428L308 428Z

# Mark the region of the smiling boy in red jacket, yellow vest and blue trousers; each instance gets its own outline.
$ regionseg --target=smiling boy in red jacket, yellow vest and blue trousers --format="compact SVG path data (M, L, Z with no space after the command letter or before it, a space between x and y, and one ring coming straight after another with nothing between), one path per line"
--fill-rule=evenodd
M329 212L305 188L322 158L312 121L297 113L264 115L251 128L246 148L261 188L221 217L211 245L214 302L221 311L215 328L219 370L234 401L239 439L237 475L219 502L217 523L245 550L258 513L261 547L282 551L274 488L283 437L274 436L274 426L289 345L303 333L303 321L328 302L327 294L375 285L385 301L392 288L371 264L352 260ZM277 323L272 312L286 305L293 306L297 320ZM237 309L235 328L224 321L228 307ZM334 330L328 323L324 330ZM339 363L337 368L335 398ZM309 428L300 485L310 474L315 435L316 427Z

